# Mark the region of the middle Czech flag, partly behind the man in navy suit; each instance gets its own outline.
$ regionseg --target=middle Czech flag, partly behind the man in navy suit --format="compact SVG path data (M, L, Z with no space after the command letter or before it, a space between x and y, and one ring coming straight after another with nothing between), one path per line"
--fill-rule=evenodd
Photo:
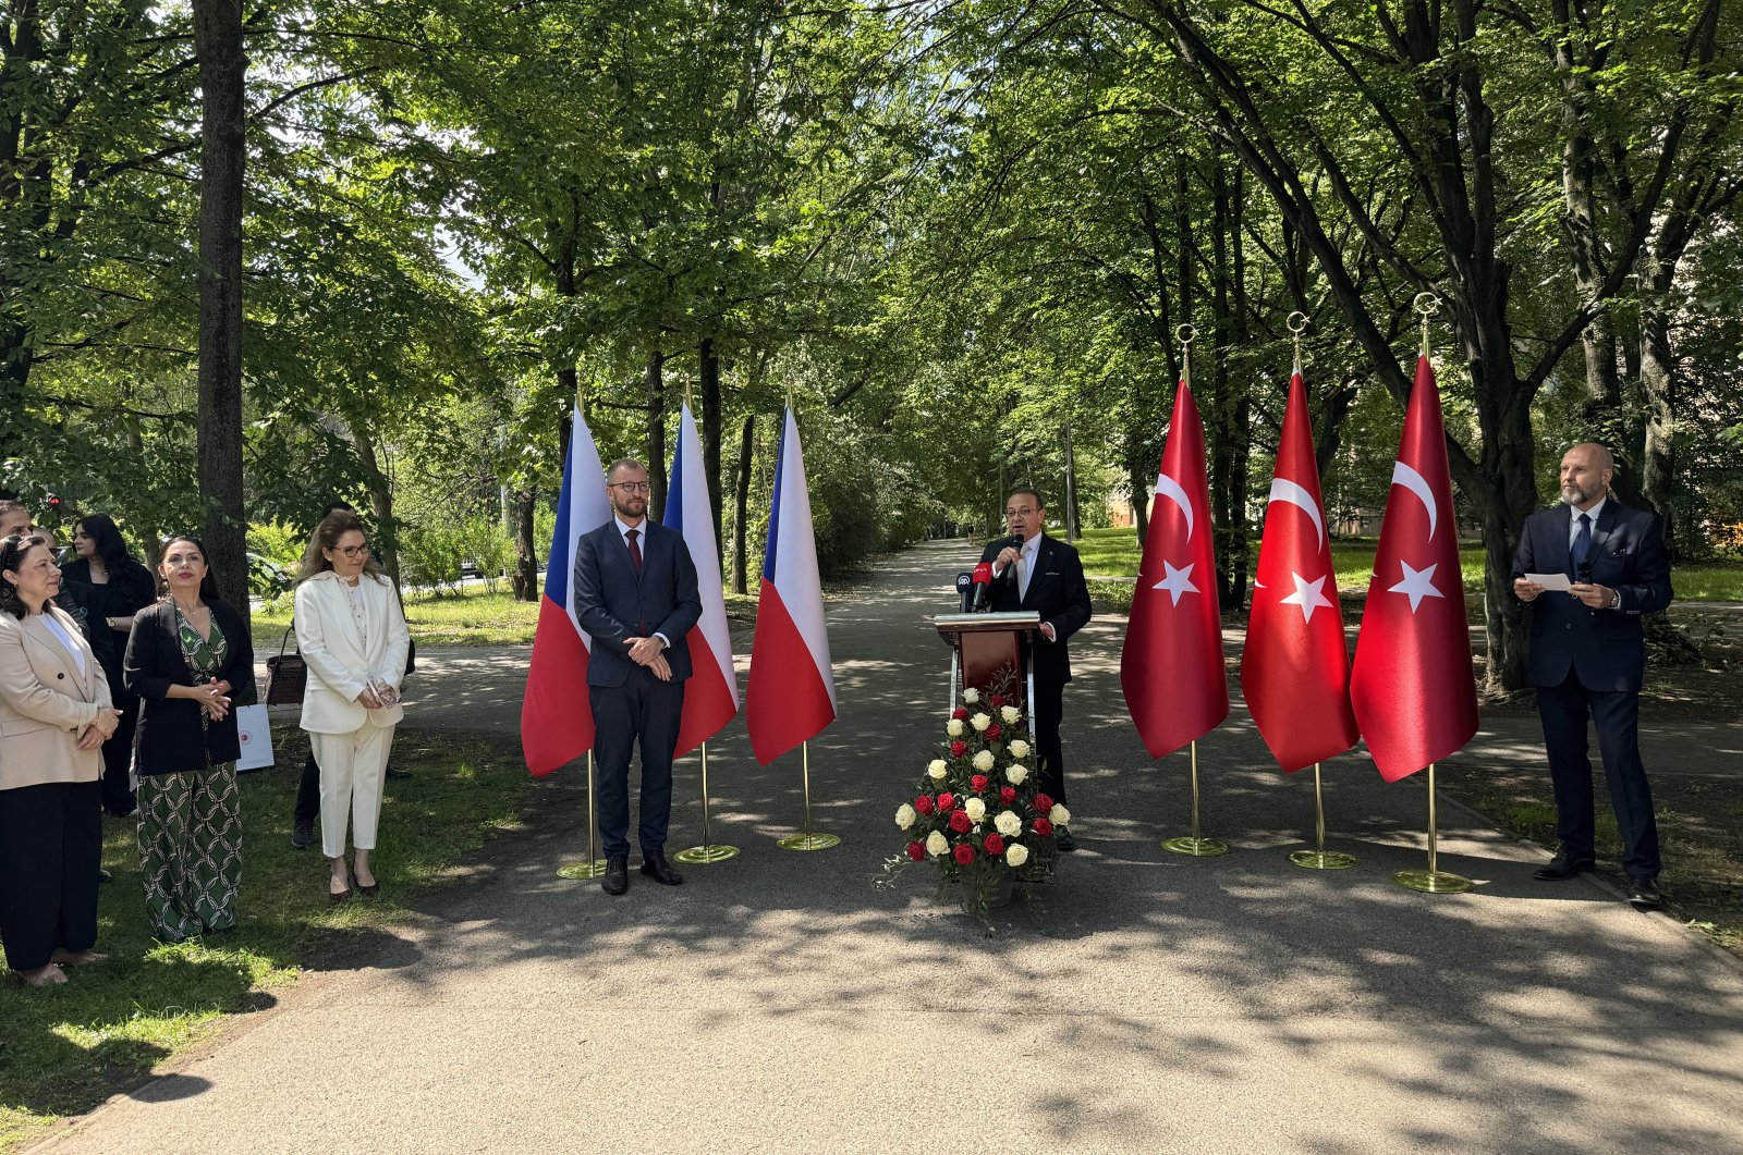
M715 516L708 503L708 474L702 472L702 439L695 418L683 406L678 451L671 458L666 496L666 528L676 530L695 563L702 591L702 617L690 627L690 679L683 685L683 719L678 749L683 758L739 713L739 679L732 671L732 636L727 632L727 599L720 585L720 552L715 549Z

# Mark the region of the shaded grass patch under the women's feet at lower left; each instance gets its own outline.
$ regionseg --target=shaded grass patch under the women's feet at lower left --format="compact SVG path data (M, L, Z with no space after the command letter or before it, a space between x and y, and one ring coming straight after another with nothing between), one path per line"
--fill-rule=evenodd
M270 1005L310 958L364 944L399 922L417 887L439 878L490 831L519 815L526 772L500 742L410 730L396 737L382 807L380 899L335 908L319 845L291 850L291 803L307 753L274 726L279 765L244 773L241 925L166 946L145 922L132 822L105 819L98 949L108 960L66 986L0 983L0 1152L40 1139L58 1117L89 1111L119 1084L199 1042L228 1014Z

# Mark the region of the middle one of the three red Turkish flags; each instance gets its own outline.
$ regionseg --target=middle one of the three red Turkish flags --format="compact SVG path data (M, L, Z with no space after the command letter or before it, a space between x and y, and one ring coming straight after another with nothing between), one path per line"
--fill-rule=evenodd
M1300 368L1290 378L1265 505L1253 611L1241 653L1241 693L1285 770L1311 767L1356 744L1344 613L1337 605Z

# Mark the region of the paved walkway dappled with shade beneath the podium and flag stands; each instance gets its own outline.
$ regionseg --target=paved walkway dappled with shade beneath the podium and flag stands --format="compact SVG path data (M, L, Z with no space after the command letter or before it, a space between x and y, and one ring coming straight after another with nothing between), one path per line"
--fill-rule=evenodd
M964 557L901 554L830 606L844 711L812 786L842 847L776 848L802 815L798 758L758 768L736 723L709 777L716 840L744 854L608 899L554 873L584 845L563 772L530 829L356 967L305 977L49 1148L1743 1150L1734 962L1597 885L1532 881L1543 855L1459 808L1441 808L1443 866L1478 888L1400 890L1391 873L1424 862L1414 780L1328 765L1333 841L1361 866L1297 869L1311 780L1267 768L1238 709L1201 744L1204 826L1236 852L1163 852L1187 824L1185 758L1143 758L1119 624L1074 646L1084 850L1051 911L1013 909L987 939L924 869L873 890L941 713L924 618ZM437 699L443 725L514 716L512 659L431 657L415 725L437 725ZM1462 758L1529 758L1529 726L1502 730ZM699 836L695 793L690 760L678 845Z

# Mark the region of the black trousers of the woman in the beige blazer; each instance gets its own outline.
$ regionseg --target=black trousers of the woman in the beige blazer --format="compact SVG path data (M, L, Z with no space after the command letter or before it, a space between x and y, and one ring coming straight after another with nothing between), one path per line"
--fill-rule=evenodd
M101 798L101 782L0 791L0 939L14 970L96 946Z

